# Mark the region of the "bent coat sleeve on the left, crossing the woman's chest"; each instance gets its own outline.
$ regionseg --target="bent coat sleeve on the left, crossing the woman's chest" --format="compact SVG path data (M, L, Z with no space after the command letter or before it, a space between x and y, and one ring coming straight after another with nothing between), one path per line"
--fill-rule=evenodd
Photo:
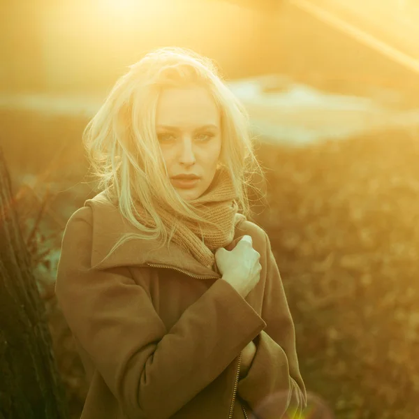
M68 326L126 418L170 418L266 323L220 279L166 330L128 267L91 268L91 209L75 214L64 231L55 286Z

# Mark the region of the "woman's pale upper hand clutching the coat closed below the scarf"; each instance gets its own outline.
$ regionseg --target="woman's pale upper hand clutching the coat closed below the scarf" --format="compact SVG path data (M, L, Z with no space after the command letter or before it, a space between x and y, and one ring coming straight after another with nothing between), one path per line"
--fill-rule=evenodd
M244 235L232 251L221 247L215 252L217 267L222 279L227 281L235 290L246 297L258 284L260 270L260 253L253 249L251 236Z

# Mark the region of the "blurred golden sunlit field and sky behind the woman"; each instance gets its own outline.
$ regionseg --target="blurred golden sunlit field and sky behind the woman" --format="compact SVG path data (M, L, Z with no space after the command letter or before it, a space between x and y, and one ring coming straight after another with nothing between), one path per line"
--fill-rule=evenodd
M72 417L87 387L53 286L68 217L96 194L82 130L166 45L214 59L249 110L268 180L254 219L308 390L339 419L418 417L418 1L3 0L0 15L0 147Z

